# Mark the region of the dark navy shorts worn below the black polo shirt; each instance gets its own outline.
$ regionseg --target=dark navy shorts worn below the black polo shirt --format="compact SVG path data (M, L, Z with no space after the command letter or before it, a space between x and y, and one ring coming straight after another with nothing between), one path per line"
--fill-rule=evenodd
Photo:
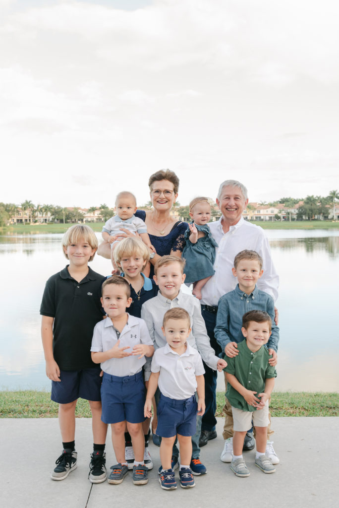
M51 400L69 404L80 398L100 401L101 369L60 370L60 381L52 381Z

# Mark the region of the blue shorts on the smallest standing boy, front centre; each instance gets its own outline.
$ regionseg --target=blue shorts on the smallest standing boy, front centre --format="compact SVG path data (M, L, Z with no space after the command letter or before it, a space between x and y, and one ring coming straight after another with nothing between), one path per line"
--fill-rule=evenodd
M161 437L194 436L198 404L195 395L189 399L176 400L160 393L157 407L158 426L156 433Z

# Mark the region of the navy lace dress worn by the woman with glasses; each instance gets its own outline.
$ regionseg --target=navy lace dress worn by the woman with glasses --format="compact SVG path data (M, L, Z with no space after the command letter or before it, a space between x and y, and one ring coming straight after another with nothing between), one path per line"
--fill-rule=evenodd
M146 212L144 210L137 210L135 212L135 216L140 217L142 220L145 221L146 218ZM185 231L188 227L187 223L180 222L179 224L175 224L171 231L168 233L168 235L163 236L155 236L150 235L151 244L156 250L156 253L159 256L166 256L168 254L171 254L171 250L176 252L179 250L180 252L183 251L185 246ZM150 278L152 278L154 275L154 267L151 265L151 273Z

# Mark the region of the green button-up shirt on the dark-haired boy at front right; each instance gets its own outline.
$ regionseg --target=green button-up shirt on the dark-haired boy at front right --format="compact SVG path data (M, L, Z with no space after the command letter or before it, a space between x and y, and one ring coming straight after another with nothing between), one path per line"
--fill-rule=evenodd
M265 389L265 379L277 377L275 367L270 366L268 363L272 355L268 354L264 346L261 346L256 353L252 353L247 347L246 340L238 344L238 351L238 356L233 358L224 357L227 362L227 367L224 368L224 371L233 374L247 390L262 393ZM256 410L256 407L250 406L230 383L227 383L226 397L233 407L243 411Z

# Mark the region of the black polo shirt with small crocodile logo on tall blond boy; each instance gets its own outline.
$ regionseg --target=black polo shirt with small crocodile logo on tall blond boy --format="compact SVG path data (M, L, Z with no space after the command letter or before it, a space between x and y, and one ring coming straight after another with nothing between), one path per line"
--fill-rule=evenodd
M90 348L94 326L103 319L103 275L89 268L86 277L77 282L68 266L47 280L40 314L54 317L53 356L59 368L81 370L97 366Z

